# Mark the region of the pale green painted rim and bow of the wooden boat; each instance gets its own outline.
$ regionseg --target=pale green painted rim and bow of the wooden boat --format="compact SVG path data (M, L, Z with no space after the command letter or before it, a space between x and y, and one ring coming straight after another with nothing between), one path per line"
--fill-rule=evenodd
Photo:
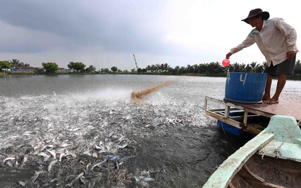
M280 155L275 151L277 146L281 146L278 153ZM258 151L258 155L278 156L301 162L301 129L297 126L296 119L291 116L272 116L268 127L228 157L210 176L203 188L227 188L234 175Z

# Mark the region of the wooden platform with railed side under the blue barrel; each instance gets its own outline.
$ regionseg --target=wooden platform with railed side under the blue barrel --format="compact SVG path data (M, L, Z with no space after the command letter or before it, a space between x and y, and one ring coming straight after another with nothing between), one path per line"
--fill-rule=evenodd
M225 107L208 109L210 102L219 103ZM205 96L204 107L207 115L254 135L267 127L273 115L292 116L297 121L301 121L301 100L268 105L236 103L223 98Z

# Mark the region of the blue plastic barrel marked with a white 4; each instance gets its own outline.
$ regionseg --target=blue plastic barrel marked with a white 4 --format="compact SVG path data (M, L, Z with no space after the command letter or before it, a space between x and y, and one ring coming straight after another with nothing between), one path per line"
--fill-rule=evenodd
M238 103L262 103L267 73L227 73L225 100Z

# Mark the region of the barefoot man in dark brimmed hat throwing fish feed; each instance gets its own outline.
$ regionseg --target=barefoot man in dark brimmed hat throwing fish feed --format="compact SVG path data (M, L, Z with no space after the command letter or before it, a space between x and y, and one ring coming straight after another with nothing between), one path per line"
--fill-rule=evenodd
M279 95L284 88L286 75L294 74L296 53L299 49L296 45L295 29L282 18L268 18L268 12L263 12L261 9L251 10L249 16L241 21L255 28L240 45L230 50L226 58L229 59L232 54L256 43L268 64L264 70L264 73L268 73L268 78L262 100L267 104L276 104L279 103ZM272 76L278 77L273 97L270 96Z

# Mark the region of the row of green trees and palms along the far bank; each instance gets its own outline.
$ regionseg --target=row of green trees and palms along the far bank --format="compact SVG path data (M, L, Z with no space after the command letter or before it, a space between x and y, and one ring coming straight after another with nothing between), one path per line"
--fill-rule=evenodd
M12 61L0 61L0 69L9 69L11 67L22 66L24 63L19 60L13 59ZM29 66L25 63L24 66ZM56 63L42 63L43 68L46 70L47 74L53 74L58 70L58 65ZM172 68L168 63L156 63L146 66L146 68L138 68L137 70L131 69L120 70L116 66L111 67L111 70L108 68L101 68L99 71L96 71L96 67L93 65L88 66L82 62L69 62L67 64L70 72L79 72L79 73L92 73L92 74L109 74L109 73L118 73L118 74L166 74L166 75L183 75L183 74L195 74L195 75L222 75L229 72L251 72L251 73L261 73L264 68L267 66L267 62L257 63L252 62L250 64L239 64L232 63L227 67L221 65L218 62L211 63L200 63L187 66L175 66ZM301 62L298 60L295 63L295 73L301 74Z

